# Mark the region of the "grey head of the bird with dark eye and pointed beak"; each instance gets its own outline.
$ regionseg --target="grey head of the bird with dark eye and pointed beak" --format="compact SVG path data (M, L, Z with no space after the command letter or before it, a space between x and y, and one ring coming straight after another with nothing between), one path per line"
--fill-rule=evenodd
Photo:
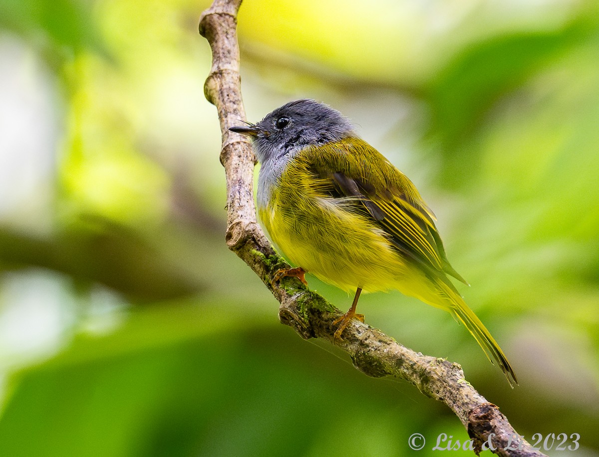
M232 132L252 136L258 161L277 160L311 145L325 144L353 135L347 118L316 100L296 100L267 114L256 124L231 127Z

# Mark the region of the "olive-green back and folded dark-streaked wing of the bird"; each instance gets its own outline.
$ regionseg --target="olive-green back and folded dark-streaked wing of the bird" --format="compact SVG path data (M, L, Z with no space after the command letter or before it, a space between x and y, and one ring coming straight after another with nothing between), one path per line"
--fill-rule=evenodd
M451 285L447 273L468 284L447 261L434 214L415 185L365 141L329 142L307 148L297 159L317 176L326 196L347 197L348 205L383 229L395 248L426 274Z

